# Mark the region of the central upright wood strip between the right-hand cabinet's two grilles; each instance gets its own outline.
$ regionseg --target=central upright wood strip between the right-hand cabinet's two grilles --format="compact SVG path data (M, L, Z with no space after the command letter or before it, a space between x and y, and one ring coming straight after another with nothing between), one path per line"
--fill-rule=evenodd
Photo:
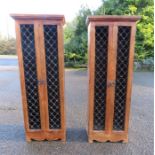
M108 63L107 63L107 95L106 95L106 130L111 134L113 128L114 100L115 100L115 81L116 81L116 27L109 26L108 35ZM113 42L113 44L111 43ZM112 83L112 85L109 85ZM111 114L111 115L110 115Z

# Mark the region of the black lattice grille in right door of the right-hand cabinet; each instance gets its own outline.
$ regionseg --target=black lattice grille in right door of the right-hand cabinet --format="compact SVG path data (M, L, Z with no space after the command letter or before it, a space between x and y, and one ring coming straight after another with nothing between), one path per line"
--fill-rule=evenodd
M131 27L118 27L114 130L124 130Z

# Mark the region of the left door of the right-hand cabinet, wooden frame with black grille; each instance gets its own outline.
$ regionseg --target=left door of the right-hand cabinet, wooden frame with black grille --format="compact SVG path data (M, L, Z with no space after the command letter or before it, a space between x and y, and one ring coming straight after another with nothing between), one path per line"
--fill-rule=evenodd
M113 25L89 26L89 131L108 132L111 127L113 88ZM110 122L110 123L109 123Z

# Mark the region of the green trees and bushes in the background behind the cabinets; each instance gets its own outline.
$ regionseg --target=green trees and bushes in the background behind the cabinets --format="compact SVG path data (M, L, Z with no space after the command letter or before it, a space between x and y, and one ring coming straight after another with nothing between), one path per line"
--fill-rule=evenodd
M137 24L135 61L145 62L154 57L154 2L153 0L102 0L92 11L82 6L75 19L64 29L65 64L85 67L87 64L87 26L89 15L140 15ZM15 54L15 39L0 36L0 54Z

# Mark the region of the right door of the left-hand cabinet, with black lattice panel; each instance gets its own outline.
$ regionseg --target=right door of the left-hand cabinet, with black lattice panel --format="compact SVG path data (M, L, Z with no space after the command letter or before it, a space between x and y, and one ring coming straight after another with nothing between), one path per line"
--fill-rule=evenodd
M42 24L45 81L46 129L64 129L64 65L63 32L60 24L45 21Z

